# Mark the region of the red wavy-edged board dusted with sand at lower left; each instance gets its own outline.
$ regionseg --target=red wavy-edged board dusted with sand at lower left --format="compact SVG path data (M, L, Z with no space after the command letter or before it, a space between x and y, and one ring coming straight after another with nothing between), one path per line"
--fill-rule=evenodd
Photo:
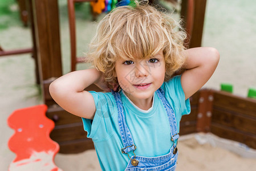
M17 156L11 162L9 170L52 170L61 171L54 164L59 145L50 139L54 122L46 117L47 106L18 109L7 122L15 133L8 146Z

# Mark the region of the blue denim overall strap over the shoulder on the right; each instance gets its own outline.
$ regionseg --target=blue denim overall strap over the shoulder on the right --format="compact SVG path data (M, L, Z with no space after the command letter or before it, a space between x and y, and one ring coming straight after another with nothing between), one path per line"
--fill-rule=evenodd
M159 96L159 98L161 99L162 104L164 105L164 108L167 112L169 124L170 124L170 137L174 143L174 141L177 140L179 137L174 111L173 111L172 107L170 106L170 104L168 103L168 101L166 100L164 91L162 90L162 88L157 89L156 92L157 92L157 95Z

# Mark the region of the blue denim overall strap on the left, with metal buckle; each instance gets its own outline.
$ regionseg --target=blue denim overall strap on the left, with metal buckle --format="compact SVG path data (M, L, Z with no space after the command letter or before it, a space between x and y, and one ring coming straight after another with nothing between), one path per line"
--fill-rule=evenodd
M121 139L122 139L123 145L124 145L124 148L121 149L121 152L128 153L131 150L135 150L136 146L133 143L132 134L129 131L129 128L127 127L127 124L125 122L123 103L121 101L120 93L115 92L113 90L111 90L111 92L116 101L116 106L117 106L117 110L118 110L118 124L119 124L119 129L120 129L120 135L121 135Z

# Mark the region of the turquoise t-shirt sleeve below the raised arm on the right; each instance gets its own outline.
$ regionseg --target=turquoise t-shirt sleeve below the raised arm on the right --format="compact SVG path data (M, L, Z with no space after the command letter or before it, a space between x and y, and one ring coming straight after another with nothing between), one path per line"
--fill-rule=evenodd
M190 113L190 101L189 99L185 100L185 93L181 86L181 75L174 76L168 82L164 82L162 88L166 98L171 101L176 116L181 118L182 115Z

